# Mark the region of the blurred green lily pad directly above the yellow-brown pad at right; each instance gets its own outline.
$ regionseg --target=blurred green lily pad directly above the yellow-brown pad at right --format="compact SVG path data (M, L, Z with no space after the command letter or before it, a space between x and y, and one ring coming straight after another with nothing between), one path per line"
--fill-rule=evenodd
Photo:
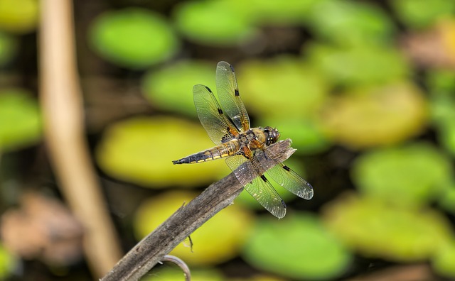
M383 45L313 44L305 52L316 70L341 85L383 84L403 79L411 71L398 50Z

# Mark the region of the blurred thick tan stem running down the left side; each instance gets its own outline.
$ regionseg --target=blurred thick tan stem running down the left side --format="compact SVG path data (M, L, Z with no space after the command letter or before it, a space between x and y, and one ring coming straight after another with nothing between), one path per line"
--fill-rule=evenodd
M70 0L43 0L40 10L40 95L45 141L65 199L84 226L88 263L99 277L117 262L121 250L84 135L73 5Z

